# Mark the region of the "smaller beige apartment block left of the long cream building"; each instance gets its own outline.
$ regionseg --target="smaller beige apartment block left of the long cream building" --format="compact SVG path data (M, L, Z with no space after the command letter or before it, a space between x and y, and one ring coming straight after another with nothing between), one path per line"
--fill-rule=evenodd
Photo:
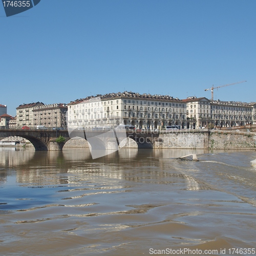
M16 108L16 126L66 127L67 106L63 103L45 105L42 102L22 104Z

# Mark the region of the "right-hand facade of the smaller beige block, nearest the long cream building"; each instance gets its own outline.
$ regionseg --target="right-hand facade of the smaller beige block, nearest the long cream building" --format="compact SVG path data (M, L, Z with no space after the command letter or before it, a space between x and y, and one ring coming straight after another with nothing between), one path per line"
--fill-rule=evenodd
M67 105L63 103L34 106L32 110L33 126L67 127L67 110Z

